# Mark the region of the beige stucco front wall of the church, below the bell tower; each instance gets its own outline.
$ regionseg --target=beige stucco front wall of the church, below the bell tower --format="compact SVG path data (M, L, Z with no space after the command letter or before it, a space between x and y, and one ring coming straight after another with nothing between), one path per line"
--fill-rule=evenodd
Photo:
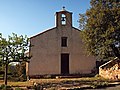
M68 46L61 47L61 37L68 37ZM70 74L91 73L95 58L85 56L80 31L62 26L53 28L30 39L32 58L29 75L61 74L61 53L69 53Z

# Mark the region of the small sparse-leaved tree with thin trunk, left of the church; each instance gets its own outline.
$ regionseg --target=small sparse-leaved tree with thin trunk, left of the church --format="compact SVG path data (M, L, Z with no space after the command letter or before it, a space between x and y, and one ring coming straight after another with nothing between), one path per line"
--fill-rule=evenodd
M18 36L13 33L8 39L3 38L0 34L0 60L5 65L5 85L7 85L8 65L11 62L27 61L30 57L25 53L28 51L29 39L27 36Z

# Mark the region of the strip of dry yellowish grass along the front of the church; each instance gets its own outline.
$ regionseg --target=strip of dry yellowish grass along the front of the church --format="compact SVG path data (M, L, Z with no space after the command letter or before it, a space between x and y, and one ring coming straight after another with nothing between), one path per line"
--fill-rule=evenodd
M99 83L98 83L99 82ZM86 78L57 78L57 79L31 79L26 82L10 82L8 85L12 87L31 87L34 86L34 83L43 85L43 87L56 87L57 85L73 85L77 83L79 85L91 85L94 87L105 86L108 83L104 82L113 82L101 77L86 77ZM3 80L0 80L0 85L4 84Z

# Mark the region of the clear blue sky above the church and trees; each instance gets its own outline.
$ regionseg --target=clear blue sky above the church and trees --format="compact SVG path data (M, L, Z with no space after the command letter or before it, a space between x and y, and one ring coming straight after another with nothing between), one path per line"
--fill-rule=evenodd
M65 6L73 13L73 26L78 28L80 13L90 8L90 0L0 0L0 33L34 36L55 27L55 12Z

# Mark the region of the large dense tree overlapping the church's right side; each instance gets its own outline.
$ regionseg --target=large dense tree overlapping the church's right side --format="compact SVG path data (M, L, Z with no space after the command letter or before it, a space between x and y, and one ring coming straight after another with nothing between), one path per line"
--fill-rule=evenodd
M120 53L120 0L91 0L84 16L80 14L82 38L88 54L99 60L115 57L114 45ZM120 55L120 54L119 54Z

